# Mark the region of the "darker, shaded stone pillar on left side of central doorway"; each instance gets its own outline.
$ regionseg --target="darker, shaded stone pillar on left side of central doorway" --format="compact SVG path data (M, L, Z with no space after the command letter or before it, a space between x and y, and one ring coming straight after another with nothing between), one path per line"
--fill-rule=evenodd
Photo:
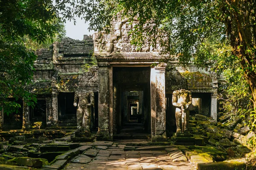
M99 127L97 140L111 140L109 135L109 70L108 63L99 63Z

